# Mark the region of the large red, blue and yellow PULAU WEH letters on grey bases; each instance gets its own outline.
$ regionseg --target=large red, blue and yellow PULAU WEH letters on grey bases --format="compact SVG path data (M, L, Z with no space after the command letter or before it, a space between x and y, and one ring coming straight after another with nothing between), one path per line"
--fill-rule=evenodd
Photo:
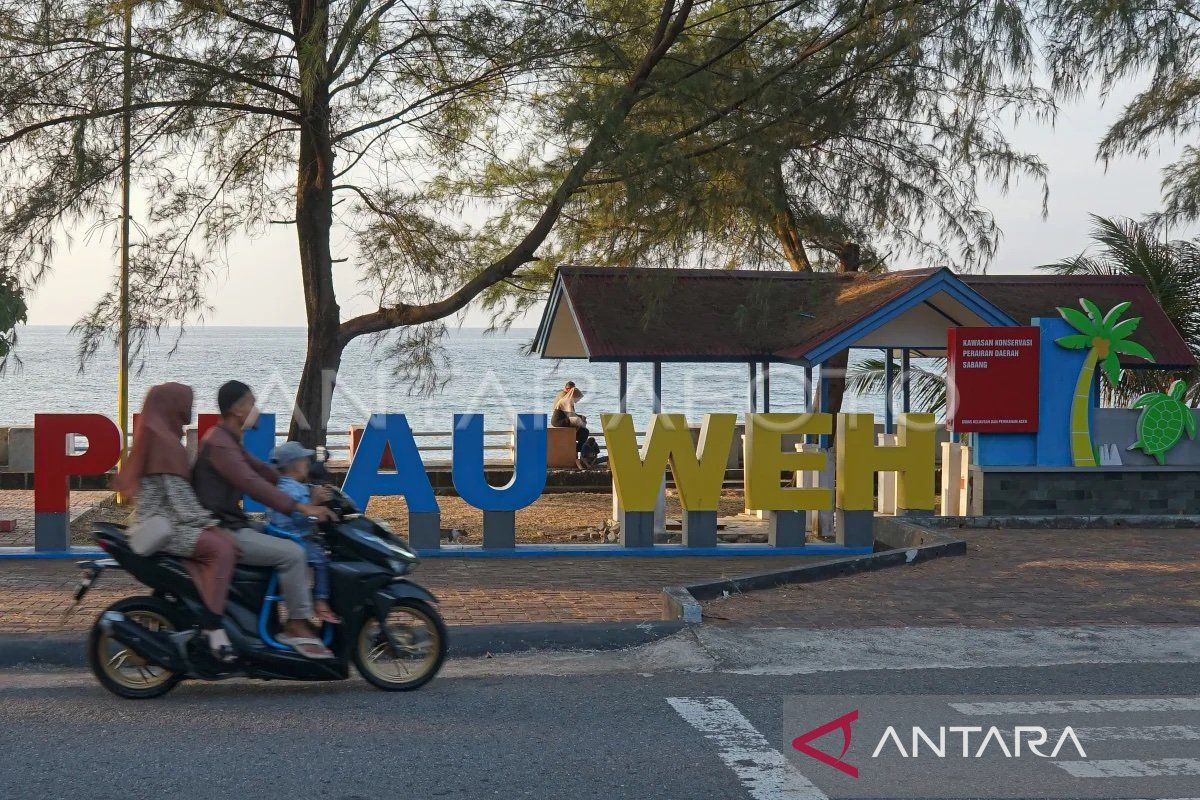
M212 423L209 415L202 419ZM685 549L715 547L718 503L734 441L736 415L704 415L696 443L684 415L655 414L641 446L631 415L605 414L601 420L613 492L622 509L622 543L638 548L654 545L654 509L670 469L684 509ZM112 420L98 414L38 414L34 425L40 547L66 549L70 480L113 469L120 451L120 433ZM259 415L254 427L245 432L247 450L265 459L275 444L274 432L275 416ZM881 446L876 444L874 415L839 414L834 437L836 489L802 488L785 486L782 475L822 470L828 456L785 451L784 437L828 437L834 433L833 415L750 414L745 433L746 503L773 512L768 534L773 546L804 547L805 512L835 510L838 543L870 551L876 473L898 474L900 509L932 511L935 432L931 414L902 414L899 444ZM72 437L86 438L88 446L82 453L68 452ZM482 415L456 414L452 438L454 487L463 500L484 512L485 547L512 548L514 512L533 504L546 486L546 415L517 415L512 477L504 486L487 482ZM385 452L390 452L394 469L382 468ZM366 507L372 497L403 497L414 547L439 547L437 495L403 414L371 416L342 488L360 507Z

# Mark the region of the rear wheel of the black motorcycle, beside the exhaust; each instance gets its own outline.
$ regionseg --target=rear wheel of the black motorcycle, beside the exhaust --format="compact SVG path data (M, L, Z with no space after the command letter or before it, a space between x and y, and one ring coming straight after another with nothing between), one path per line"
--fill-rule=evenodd
M176 609L157 597L126 597L104 610L120 612L151 631L178 631L181 627ZM88 666L101 686L131 700L162 697L184 680L179 673L146 663L124 644L109 638L98 618L88 636Z

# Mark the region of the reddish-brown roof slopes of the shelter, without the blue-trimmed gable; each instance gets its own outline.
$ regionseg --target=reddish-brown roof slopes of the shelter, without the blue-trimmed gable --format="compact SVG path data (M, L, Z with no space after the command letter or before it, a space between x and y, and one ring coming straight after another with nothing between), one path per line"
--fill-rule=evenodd
M594 360L803 360L941 270L887 273L559 269L562 291ZM1195 363L1162 307L1135 277L955 276L1019 324L1055 317L1086 296L1102 308L1129 300L1135 338L1158 363ZM547 308L544 329L552 321ZM1126 359L1126 366L1145 366Z

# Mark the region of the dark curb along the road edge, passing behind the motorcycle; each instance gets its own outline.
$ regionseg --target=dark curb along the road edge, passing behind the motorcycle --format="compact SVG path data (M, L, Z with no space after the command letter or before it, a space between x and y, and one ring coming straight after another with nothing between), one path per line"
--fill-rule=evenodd
M449 654L469 658L529 650L619 650L647 644L682 630L684 622L528 622L452 625ZM83 669L86 633L0 636L0 669L56 667Z

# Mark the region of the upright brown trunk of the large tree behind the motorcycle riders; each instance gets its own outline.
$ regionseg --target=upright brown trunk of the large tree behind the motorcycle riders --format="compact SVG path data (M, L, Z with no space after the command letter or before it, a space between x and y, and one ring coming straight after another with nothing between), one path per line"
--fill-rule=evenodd
M329 120L328 4L300 0L292 6L301 96L296 175L296 237L308 318L308 350L296 389L288 438L307 447L325 444L337 369L342 363L341 309L334 291L330 230L334 225L334 148ZM308 50L311 48L311 52ZM308 72L311 74L304 74Z

